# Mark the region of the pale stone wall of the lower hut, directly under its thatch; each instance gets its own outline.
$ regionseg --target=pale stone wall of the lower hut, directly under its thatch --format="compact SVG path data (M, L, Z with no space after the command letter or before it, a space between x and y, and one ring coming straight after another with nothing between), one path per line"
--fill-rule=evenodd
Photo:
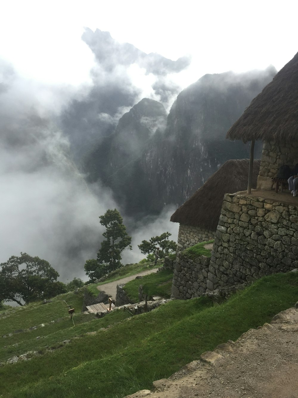
M187 249L188 247L194 246L199 242L207 242L208 240L212 240L214 239L215 232L216 231L200 229L196 226L180 224L177 240L177 251Z

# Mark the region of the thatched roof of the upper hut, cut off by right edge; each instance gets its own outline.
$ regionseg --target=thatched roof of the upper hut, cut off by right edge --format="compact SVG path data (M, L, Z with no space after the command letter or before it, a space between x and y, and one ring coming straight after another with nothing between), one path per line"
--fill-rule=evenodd
M298 53L252 100L226 138L243 142L298 139Z

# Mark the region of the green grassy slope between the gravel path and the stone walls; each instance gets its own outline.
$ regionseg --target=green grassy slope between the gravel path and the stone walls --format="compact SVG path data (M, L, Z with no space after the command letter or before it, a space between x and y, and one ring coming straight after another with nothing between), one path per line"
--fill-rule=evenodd
M298 275L287 273L264 277L221 305L195 298L174 300L138 316L114 311L97 319L76 313L75 326L63 312L67 308L61 296L49 304L12 310L0 318L1 335L19 329L19 322L27 328L30 319L31 326L50 322L56 313L62 319L2 338L2 362L29 349L44 354L0 367L0 396L112 398L151 388L153 380L269 322L297 298ZM70 343L63 344L65 339ZM60 348L46 351L52 346Z

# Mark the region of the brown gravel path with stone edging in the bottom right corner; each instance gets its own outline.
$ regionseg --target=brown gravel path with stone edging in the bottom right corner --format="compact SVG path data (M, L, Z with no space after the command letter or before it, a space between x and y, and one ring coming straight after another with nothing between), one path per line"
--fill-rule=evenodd
M166 366L166 363L164 364ZM298 310L289 308L271 324L250 329L201 355L168 379L130 398L297 398Z

